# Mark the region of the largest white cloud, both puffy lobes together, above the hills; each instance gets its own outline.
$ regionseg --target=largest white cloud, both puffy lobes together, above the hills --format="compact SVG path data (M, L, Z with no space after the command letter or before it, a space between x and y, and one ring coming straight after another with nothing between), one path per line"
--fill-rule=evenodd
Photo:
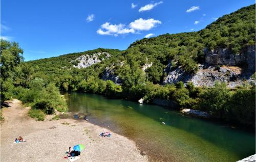
M124 24L111 24L110 22L105 22L100 26L100 29L97 30L99 35L113 35L118 36L120 34L129 34L129 33L137 33L139 31L148 31L152 28L156 27L157 24L161 24L162 22L159 20L155 20L153 18L143 19L139 18L129 25Z

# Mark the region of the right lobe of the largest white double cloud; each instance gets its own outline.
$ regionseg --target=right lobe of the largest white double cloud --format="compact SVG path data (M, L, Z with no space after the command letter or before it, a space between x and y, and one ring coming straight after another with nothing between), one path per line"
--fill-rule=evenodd
M161 24L162 22L159 20L155 20L154 18L143 19L139 18L130 23L130 28L138 31L148 31L154 28L157 24Z

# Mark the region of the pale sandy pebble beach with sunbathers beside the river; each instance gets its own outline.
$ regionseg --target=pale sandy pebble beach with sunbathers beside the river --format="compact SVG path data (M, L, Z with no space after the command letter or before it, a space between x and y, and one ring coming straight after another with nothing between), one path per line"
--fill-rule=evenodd
M14 99L10 105L3 109L1 161L68 161L64 152L76 144L86 146L76 161L147 161L132 140L116 133L111 138L99 136L108 129L84 120L35 121L20 101ZM13 144L18 136L27 142Z

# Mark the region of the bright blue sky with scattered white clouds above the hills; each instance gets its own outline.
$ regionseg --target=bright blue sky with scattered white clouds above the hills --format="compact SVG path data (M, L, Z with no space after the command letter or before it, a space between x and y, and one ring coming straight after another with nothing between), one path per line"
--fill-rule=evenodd
M2 0L1 38L18 42L25 61L98 47L126 49L145 36L199 31L253 3Z

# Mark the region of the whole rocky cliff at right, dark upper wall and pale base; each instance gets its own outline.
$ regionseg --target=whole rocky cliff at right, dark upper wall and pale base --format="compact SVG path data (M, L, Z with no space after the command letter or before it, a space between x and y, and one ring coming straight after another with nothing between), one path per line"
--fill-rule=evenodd
M241 86L246 82L254 83L250 76L255 72L255 45L247 46L243 52L233 54L229 49L204 49L205 63L199 64L195 74L186 73L182 67L173 68L168 64L165 68L167 76L163 85L182 81L193 82L195 86L214 86L218 82L225 82L229 88ZM243 65L243 66L242 66Z

